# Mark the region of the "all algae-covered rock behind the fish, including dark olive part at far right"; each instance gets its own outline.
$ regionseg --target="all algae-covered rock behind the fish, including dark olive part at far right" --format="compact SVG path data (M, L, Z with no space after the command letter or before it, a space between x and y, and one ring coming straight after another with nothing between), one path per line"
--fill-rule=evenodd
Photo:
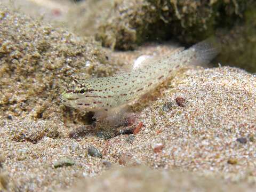
M217 35L222 65L255 72L255 7L255 1L85 1L71 9L70 25L116 50L166 39L193 44Z

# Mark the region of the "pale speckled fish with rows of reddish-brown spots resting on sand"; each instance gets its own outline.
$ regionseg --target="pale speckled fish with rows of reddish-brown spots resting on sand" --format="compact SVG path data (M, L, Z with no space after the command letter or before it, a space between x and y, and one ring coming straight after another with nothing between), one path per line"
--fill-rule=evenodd
M62 93L62 102L69 107L87 111L108 110L139 99L175 75L178 68L186 65L202 65L210 62L218 49L208 41L198 43L187 50L172 55L149 58L143 67L130 73L113 77L74 80L73 85Z

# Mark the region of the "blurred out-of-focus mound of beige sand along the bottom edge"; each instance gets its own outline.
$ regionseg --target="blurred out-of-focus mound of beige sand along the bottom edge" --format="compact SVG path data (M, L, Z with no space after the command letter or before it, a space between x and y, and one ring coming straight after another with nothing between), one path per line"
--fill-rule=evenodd
M219 178L200 177L180 171L150 170L127 167L108 171L98 178L89 178L67 191L253 191L244 183L225 183Z

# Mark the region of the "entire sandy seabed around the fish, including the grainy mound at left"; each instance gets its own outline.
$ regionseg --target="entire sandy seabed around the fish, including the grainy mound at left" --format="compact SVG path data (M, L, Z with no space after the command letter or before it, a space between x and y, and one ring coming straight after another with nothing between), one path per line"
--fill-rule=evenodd
M107 135L61 105L59 94L74 77L114 74L115 54L0 10L0 190L255 188L256 76L188 67L157 99L133 108L133 134Z

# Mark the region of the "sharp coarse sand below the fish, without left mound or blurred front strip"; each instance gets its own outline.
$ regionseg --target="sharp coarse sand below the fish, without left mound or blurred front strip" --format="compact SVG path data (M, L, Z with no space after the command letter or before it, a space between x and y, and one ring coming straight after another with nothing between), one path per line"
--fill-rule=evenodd
M2 119L2 164L9 186L21 191L67 187L119 164L218 175L226 182L254 186L255 78L229 67L188 70L173 79L174 88L141 111L143 127L132 138L105 140L89 130L71 139L72 128L54 118ZM178 106L178 97L185 99L184 107ZM89 146L102 158L88 155ZM54 169L64 158L74 165Z

